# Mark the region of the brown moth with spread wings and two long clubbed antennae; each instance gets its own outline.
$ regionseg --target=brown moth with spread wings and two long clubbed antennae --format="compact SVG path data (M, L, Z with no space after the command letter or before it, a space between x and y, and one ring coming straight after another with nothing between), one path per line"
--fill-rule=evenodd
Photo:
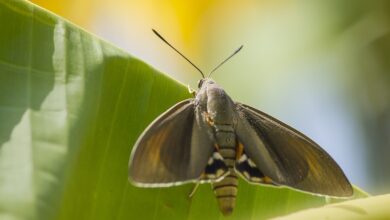
M233 101L202 74L194 98L155 119L135 143L129 180L139 187L211 183L224 215L232 213L238 178L336 197L353 194L337 163L310 138L249 105Z

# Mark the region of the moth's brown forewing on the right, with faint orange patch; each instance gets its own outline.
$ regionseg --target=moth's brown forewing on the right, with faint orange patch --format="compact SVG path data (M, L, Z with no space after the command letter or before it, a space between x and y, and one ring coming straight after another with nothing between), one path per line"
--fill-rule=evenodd
M236 107L238 123L244 132L249 131L241 132L238 138L248 157L273 182L330 196L353 194L341 168L310 138L255 108L238 103ZM261 143L253 145L258 139ZM260 161L262 152L267 153L267 161L274 161L271 165Z

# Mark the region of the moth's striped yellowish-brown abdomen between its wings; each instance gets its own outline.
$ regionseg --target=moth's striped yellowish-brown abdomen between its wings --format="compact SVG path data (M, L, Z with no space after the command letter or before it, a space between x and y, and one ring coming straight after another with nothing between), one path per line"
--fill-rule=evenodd
M230 214L236 203L238 179L234 171L236 161L236 137L231 125L214 125L218 151L224 158L230 174L219 182L212 183L218 206L224 215Z

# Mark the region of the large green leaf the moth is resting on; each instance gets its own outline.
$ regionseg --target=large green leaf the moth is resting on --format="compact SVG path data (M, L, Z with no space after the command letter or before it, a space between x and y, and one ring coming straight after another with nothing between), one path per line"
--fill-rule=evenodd
M28 1L0 0L0 219L222 218L209 185L142 189L131 148L184 85ZM360 194L360 193L357 193ZM325 197L240 181L231 219Z

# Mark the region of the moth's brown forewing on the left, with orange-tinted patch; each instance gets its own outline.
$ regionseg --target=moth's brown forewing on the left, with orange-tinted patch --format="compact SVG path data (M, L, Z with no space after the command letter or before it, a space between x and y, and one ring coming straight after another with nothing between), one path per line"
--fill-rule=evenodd
M213 153L213 142L195 116L193 99L177 103L153 121L137 140L129 179L141 187L197 180Z

